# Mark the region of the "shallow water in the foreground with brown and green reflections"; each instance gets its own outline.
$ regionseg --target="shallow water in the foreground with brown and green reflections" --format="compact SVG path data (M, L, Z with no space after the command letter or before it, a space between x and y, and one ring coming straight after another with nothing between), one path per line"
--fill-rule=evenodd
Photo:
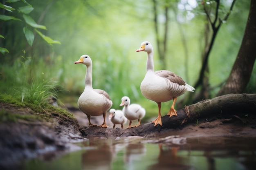
M158 138L157 138L158 139ZM155 140L154 140L155 141ZM81 150L26 161L23 170L254 170L256 138L200 137L184 144L93 137ZM48 157L50 158L50 157Z

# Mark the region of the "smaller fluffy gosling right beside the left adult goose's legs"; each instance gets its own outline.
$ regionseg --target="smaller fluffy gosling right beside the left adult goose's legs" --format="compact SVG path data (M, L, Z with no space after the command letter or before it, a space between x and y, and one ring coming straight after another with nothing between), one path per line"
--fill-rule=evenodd
M121 128L124 128L124 124L127 121L123 111L115 110L114 108L109 110L109 119L114 124L113 128L115 128L116 124L121 124Z

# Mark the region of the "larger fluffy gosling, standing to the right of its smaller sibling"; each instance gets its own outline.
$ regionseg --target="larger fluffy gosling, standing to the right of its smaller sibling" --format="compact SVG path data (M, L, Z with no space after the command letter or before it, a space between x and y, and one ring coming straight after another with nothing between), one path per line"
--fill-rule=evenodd
M122 97L120 106L124 106L124 116L130 121L127 128L138 127L140 125L141 119L146 114L146 110L142 108L139 104L130 104L130 98L127 96ZM132 120L136 119L138 119L139 124L131 126Z

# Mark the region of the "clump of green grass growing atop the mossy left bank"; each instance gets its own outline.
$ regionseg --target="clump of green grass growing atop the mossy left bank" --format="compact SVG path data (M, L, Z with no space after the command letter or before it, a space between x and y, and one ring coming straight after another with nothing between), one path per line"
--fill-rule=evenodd
M25 54L25 51L23 51ZM12 80L9 86L7 94L18 98L20 102L27 102L31 104L42 104L47 102L48 97L57 98L57 93L62 91L62 87L57 81L47 81L44 77L44 73L40 75L29 75L29 73L35 73L36 67L29 67L34 64L31 57L21 56L21 65L17 68L16 79ZM2 89L3 90L3 89Z

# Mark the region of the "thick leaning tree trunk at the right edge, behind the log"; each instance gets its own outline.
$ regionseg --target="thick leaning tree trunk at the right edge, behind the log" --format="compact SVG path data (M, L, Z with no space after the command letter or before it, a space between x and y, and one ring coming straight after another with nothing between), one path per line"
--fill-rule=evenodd
M242 45L236 57L236 62L227 79L220 89L218 96L229 93L243 93L252 74L256 59L256 1L251 0Z

